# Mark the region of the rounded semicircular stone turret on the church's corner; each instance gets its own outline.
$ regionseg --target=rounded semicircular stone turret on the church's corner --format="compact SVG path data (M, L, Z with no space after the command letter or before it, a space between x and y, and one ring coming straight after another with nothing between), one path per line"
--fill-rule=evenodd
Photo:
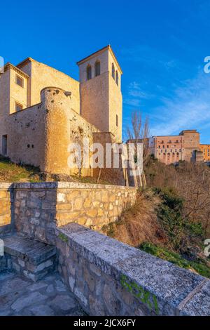
M45 152L41 171L69 175L67 160L70 143L71 92L61 88L46 87L41 91L41 107L45 112Z

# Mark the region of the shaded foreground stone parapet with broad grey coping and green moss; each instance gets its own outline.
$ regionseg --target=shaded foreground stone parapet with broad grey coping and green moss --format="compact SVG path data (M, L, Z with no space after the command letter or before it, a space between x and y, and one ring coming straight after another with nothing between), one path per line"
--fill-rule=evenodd
M58 270L88 315L209 315L210 281L77 224L57 229Z

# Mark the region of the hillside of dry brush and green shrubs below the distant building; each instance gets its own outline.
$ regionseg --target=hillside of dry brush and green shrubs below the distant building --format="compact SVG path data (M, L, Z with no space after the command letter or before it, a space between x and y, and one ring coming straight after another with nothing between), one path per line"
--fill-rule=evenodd
M210 238L210 169L181 162L165 166L150 157L148 187L134 206L103 231L148 253L210 278L204 240Z

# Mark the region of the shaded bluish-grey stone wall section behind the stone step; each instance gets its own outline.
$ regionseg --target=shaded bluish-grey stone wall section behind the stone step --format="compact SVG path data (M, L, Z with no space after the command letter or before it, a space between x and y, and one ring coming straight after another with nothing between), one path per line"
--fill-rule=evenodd
M13 187L16 230L55 244L57 183L15 183Z

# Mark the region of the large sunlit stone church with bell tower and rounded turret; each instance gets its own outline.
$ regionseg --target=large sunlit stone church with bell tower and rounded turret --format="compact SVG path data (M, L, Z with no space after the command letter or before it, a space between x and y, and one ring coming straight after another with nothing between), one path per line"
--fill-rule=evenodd
M122 140L122 70L111 46L77 62L79 81L32 58L0 74L0 154L72 174L68 145ZM84 169L92 176L92 169Z

